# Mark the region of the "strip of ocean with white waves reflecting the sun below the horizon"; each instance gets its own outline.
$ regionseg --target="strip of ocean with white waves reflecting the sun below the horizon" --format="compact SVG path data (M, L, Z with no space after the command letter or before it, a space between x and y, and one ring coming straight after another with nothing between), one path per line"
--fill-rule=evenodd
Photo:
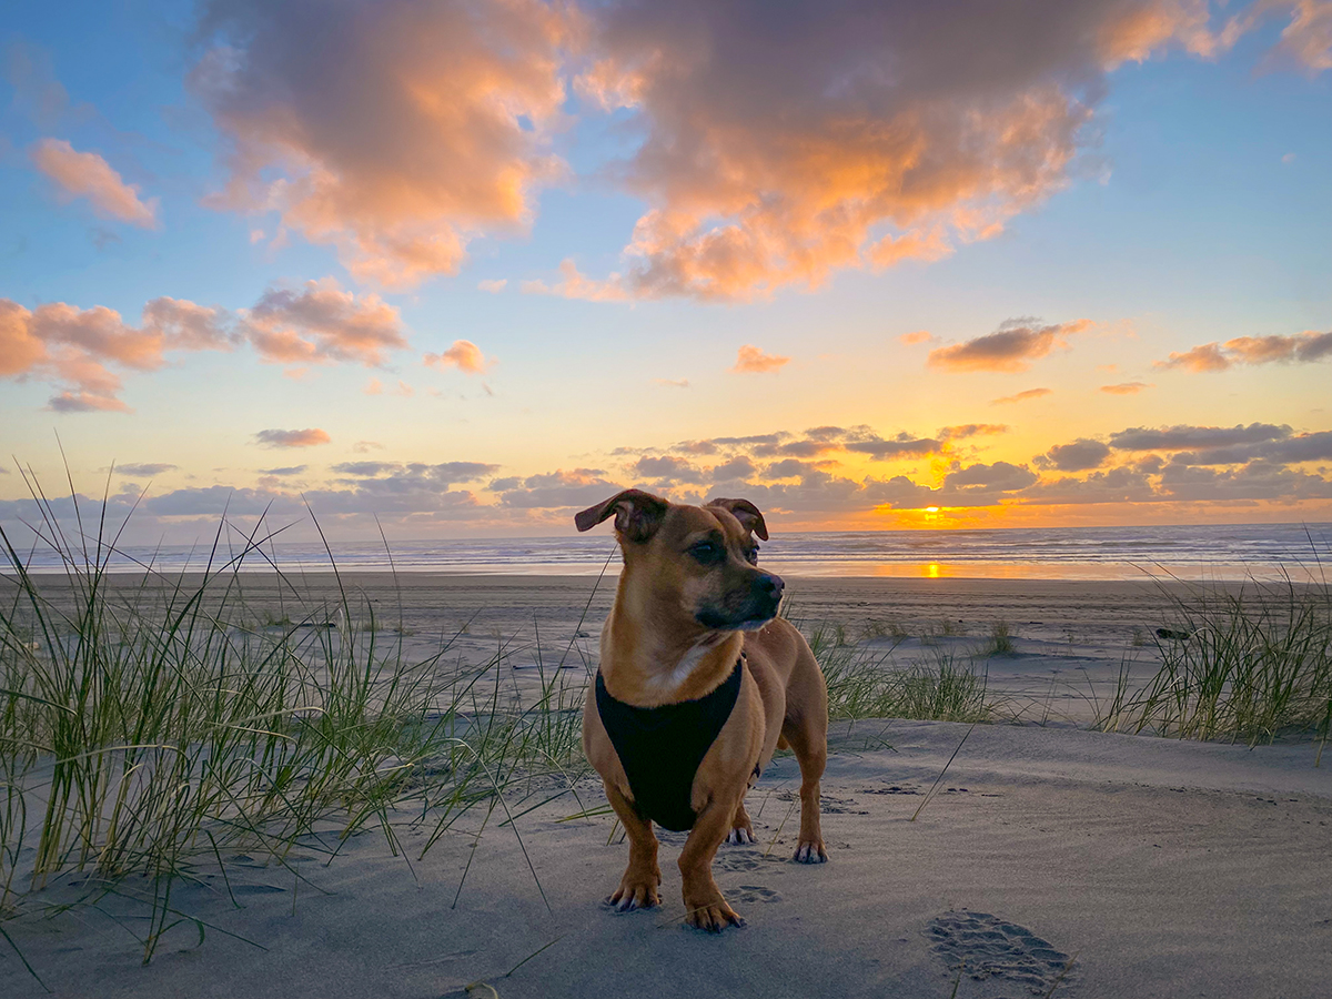
M210 542L209 542L210 543ZM242 570L597 574L615 571L609 530L541 538L390 539L282 538L262 550L224 547L213 567L238 561ZM33 571L65 566L49 549L20 553ZM125 546L103 555L112 571L152 566L202 570L209 545ZM1277 578L1321 581L1332 562L1332 523L1251 523L1156 527L1042 527L1002 530L795 531L762 545L765 567L789 575L892 575L924 578L1132 579L1173 574L1187 579ZM12 571L0 563L0 571Z

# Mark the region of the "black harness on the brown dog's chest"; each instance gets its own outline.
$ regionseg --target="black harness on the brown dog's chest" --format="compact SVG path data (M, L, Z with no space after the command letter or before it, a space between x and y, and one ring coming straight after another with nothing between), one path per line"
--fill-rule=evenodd
M694 775L731 717L745 670L735 661L731 675L711 694L661 707L634 707L606 691L597 670L597 713L619 755L645 818L675 832L693 829L690 805Z

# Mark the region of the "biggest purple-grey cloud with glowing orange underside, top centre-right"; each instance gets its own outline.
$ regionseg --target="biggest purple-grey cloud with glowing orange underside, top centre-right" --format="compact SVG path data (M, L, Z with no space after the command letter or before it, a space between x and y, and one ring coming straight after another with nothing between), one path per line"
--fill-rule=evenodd
M691 0L590 8L575 81L643 136L618 281L725 301L936 260L1070 182L1106 73L1211 56L1200 0L982 5Z

